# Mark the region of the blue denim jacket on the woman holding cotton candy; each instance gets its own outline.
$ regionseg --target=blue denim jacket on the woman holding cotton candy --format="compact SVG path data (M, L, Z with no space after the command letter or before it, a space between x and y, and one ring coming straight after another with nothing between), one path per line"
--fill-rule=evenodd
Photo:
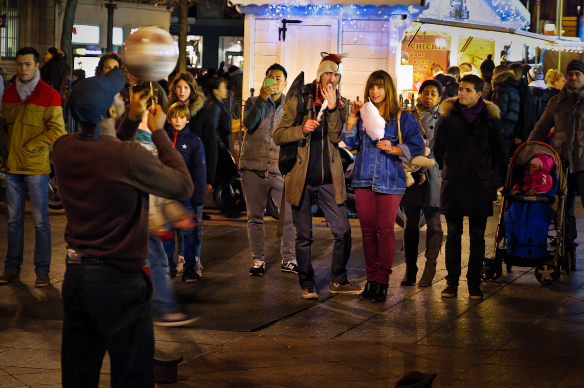
M403 157L386 154L377 148L377 141L371 140L363 129L360 116L359 122L350 131L343 131L347 146L359 149L353 167L354 188L371 187L373 191L384 194L404 194L405 171L402 162L422 155L423 138L418 122L410 113L402 111L400 122L403 144L399 144L397 119L385 124L385 136L381 140L388 140L392 146L401 148Z

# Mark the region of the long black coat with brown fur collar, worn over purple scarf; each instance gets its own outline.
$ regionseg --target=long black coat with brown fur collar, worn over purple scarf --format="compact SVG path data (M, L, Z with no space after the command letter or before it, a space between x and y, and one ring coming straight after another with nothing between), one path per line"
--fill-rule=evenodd
M434 157L442 170L440 213L449 216L493 215L493 166L503 143L499 108L484 101L477 118L468 123L458 98L440 104Z

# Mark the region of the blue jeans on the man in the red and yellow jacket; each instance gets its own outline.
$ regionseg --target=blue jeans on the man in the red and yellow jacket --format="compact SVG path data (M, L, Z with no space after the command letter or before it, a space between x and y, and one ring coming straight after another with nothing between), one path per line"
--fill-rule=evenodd
M48 222L48 174L6 174L8 250L4 270L20 273L24 254L26 192L34 225L34 272L48 273L51 265L51 225Z

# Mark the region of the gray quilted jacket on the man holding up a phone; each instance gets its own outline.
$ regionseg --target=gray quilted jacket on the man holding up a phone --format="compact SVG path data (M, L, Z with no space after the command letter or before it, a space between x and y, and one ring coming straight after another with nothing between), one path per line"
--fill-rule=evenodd
M244 106L244 140L239 157L239 169L251 171L267 171L270 174L280 174L278 156L280 146L272 139L274 130L284 114L286 96L280 96L280 105L259 96L250 97Z

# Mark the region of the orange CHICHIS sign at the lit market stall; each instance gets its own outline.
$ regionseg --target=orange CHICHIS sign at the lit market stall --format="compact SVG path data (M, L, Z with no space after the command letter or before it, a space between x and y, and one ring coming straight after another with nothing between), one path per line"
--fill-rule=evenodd
M450 37L425 35L416 36L408 48L405 48L409 40L404 42L402 53L407 55L408 61L402 64L413 65L413 90L418 91L422 82L426 79L427 68L433 63L439 64L444 70L448 67L450 53Z

